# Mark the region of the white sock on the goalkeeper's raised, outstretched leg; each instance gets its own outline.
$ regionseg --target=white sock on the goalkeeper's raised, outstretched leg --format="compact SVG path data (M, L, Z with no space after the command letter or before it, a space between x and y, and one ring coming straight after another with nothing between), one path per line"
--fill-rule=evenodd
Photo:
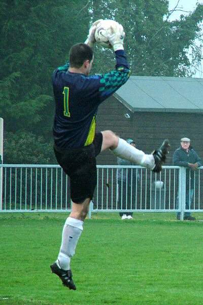
M112 152L122 159L145 166L150 170L154 167L153 155L147 155L142 150L139 150L128 144L125 140L119 138L118 146Z

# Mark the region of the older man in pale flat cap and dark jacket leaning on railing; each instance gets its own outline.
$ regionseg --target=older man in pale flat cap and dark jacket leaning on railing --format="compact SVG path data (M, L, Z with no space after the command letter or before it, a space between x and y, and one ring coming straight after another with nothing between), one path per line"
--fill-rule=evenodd
M190 209L193 193L194 193L194 171L197 167L202 166L202 161L190 146L190 139L182 138L181 146L177 148L173 156L173 164L176 166L184 166L186 169L186 210ZM178 205L178 198L177 198ZM177 213L177 219L180 220L180 212ZM195 220L190 212L185 212L184 220Z

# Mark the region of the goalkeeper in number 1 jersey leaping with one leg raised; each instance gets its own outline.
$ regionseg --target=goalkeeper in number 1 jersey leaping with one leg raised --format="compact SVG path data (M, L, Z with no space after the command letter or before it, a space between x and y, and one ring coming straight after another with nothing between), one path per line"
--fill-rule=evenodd
M50 266L69 289L76 290L70 262L83 230L97 181L95 157L107 149L116 156L136 162L154 172L161 171L169 143L151 155L145 154L111 130L95 132L97 109L129 78L130 69L123 49L125 33L122 25L113 28L109 42L115 52L116 70L103 75L89 76L94 60L92 47L96 24L93 23L85 43L74 45L69 62L53 73L55 116L53 124L54 152L66 175L70 177L72 212L67 217L58 258Z

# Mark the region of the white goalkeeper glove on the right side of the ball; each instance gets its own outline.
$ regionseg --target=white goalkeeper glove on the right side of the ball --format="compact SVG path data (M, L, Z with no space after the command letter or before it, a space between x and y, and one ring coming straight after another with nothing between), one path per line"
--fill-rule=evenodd
M123 50L123 40L125 37L125 32L121 24L112 26L113 33L109 35L109 42L112 45L114 51Z

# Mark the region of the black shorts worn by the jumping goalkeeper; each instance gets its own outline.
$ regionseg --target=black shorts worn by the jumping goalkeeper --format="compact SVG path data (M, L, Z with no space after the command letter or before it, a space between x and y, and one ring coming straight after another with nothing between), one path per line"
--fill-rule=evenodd
M96 132L92 144L60 150L54 145L54 152L59 165L70 177L71 199L81 204L86 198L93 198L97 181L96 156L101 151L103 135Z

